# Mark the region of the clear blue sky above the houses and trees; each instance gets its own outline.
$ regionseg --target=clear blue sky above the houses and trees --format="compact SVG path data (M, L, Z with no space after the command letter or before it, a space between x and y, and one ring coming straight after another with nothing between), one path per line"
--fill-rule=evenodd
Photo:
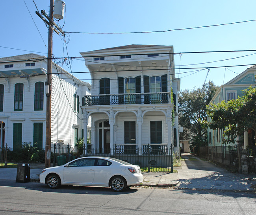
M48 13L49 0L34 0L34 2L39 11L45 9ZM255 0L65 0L64 2L66 4L65 24L64 19L60 20L59 24L60 26L64 24L63 31L67 32L164 31L256 19ZM0 2L0 46L2 46L0 47L0 57L36 53L35 51L43 52L37 54L47 56L48 29L35 14L35 4L33 0L2 0ZM130 44L173 45L174 52L178 53L256 50L255 26L256 21L252 21L165 33L111 35L69 33L65 36L66 41L69 41L67 50L65 50L63 37L54 34L53 53L55 57L62 57L64 46L64 57L67 57L67 51L69 57L77 57L80 56L80 52L84 51ZM245 55L250 56L241 57ZM236 59L223 61L230 58ZM207 69L197 73L191 72L197 70L193 69L194 67L256 64L255 59L256 51L193 53L182 54L182 56L177 54L174 57L174 62L176 68L191 68L176 70L176 77L181 78L181 90L190 90L202 86L205 79L206 82L211 80L215 85L222 85L250 66L229 67L228 69L210 68L207 78ZM72 72L81 72L75 76L91 83L91 76L88 73L82 73L88 72L88 70L81 59L73 59L71 66L64 65L63 68L68 72L71 70ZM183 72L189 73L182 74Z

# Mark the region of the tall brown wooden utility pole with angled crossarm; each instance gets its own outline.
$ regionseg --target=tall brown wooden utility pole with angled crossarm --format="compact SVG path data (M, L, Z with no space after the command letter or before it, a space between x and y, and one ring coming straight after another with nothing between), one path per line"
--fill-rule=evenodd
M59 2L62 3L62 1L59 1ZM52 114L51 114L51 107L52 107L52 35L53 35L53 30L57 34L59 34L59 33L61 33L62 35L65 34L65 32L63 32L58 27L58 25L53 21L53 7L54 7L54 0L50 0L49 16L46 14L45 10L41 11L41 14L43 16L45 16L48 19L48 21L38 11L35 11L35 13L48 25L47 80L46 80L46 83L45 83L45 94L46 94L45 168L51 166L51 142L52 142L52 136L51 136L51 119L52 119Z

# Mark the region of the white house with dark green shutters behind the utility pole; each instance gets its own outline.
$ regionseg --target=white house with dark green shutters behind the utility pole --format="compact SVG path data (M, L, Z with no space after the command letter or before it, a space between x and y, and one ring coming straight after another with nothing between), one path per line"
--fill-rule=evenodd
M23 142L45 148L47 72L45 56L25 54L0 58L0 146L13 150ZM82 97L91 85L52 62L52 144L72 147L83 135ZM90 135L90 120L87 136Z

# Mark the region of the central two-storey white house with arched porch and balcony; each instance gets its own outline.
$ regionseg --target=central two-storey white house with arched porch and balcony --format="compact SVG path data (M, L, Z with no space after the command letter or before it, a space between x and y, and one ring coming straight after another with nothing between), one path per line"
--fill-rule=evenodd
M80 54L92 78L91 96L82 106L85 130L91 116L91 147L109 153L117 144L121 152L137 152L148 143L155 150L173 144L179 151L180 79L173 46L128 45Z

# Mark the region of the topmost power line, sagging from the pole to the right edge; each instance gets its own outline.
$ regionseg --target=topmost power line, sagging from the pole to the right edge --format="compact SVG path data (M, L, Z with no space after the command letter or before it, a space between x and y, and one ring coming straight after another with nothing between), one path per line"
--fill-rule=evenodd
M132 34L132 33L164 33L164 32L169 32L169 31L180 31L180 30L189 30L189 29L197 29L197 28L209 28L209 27L215 27L215 26L224 26L224 25L231 25L231 24L239 24L243 22L253 22L256 21L254 20L246 20L246 21L241 21L241 22L231 22L231 23L224 23L224 24L215 24L215 25L209 25L209 26L199 26L199 27L192 27L192 28L178 28L178 29L171 29L171 30L165 30L165 31L134 31L134 32L71 32L67 31L66 33L81 33L81 34Z

